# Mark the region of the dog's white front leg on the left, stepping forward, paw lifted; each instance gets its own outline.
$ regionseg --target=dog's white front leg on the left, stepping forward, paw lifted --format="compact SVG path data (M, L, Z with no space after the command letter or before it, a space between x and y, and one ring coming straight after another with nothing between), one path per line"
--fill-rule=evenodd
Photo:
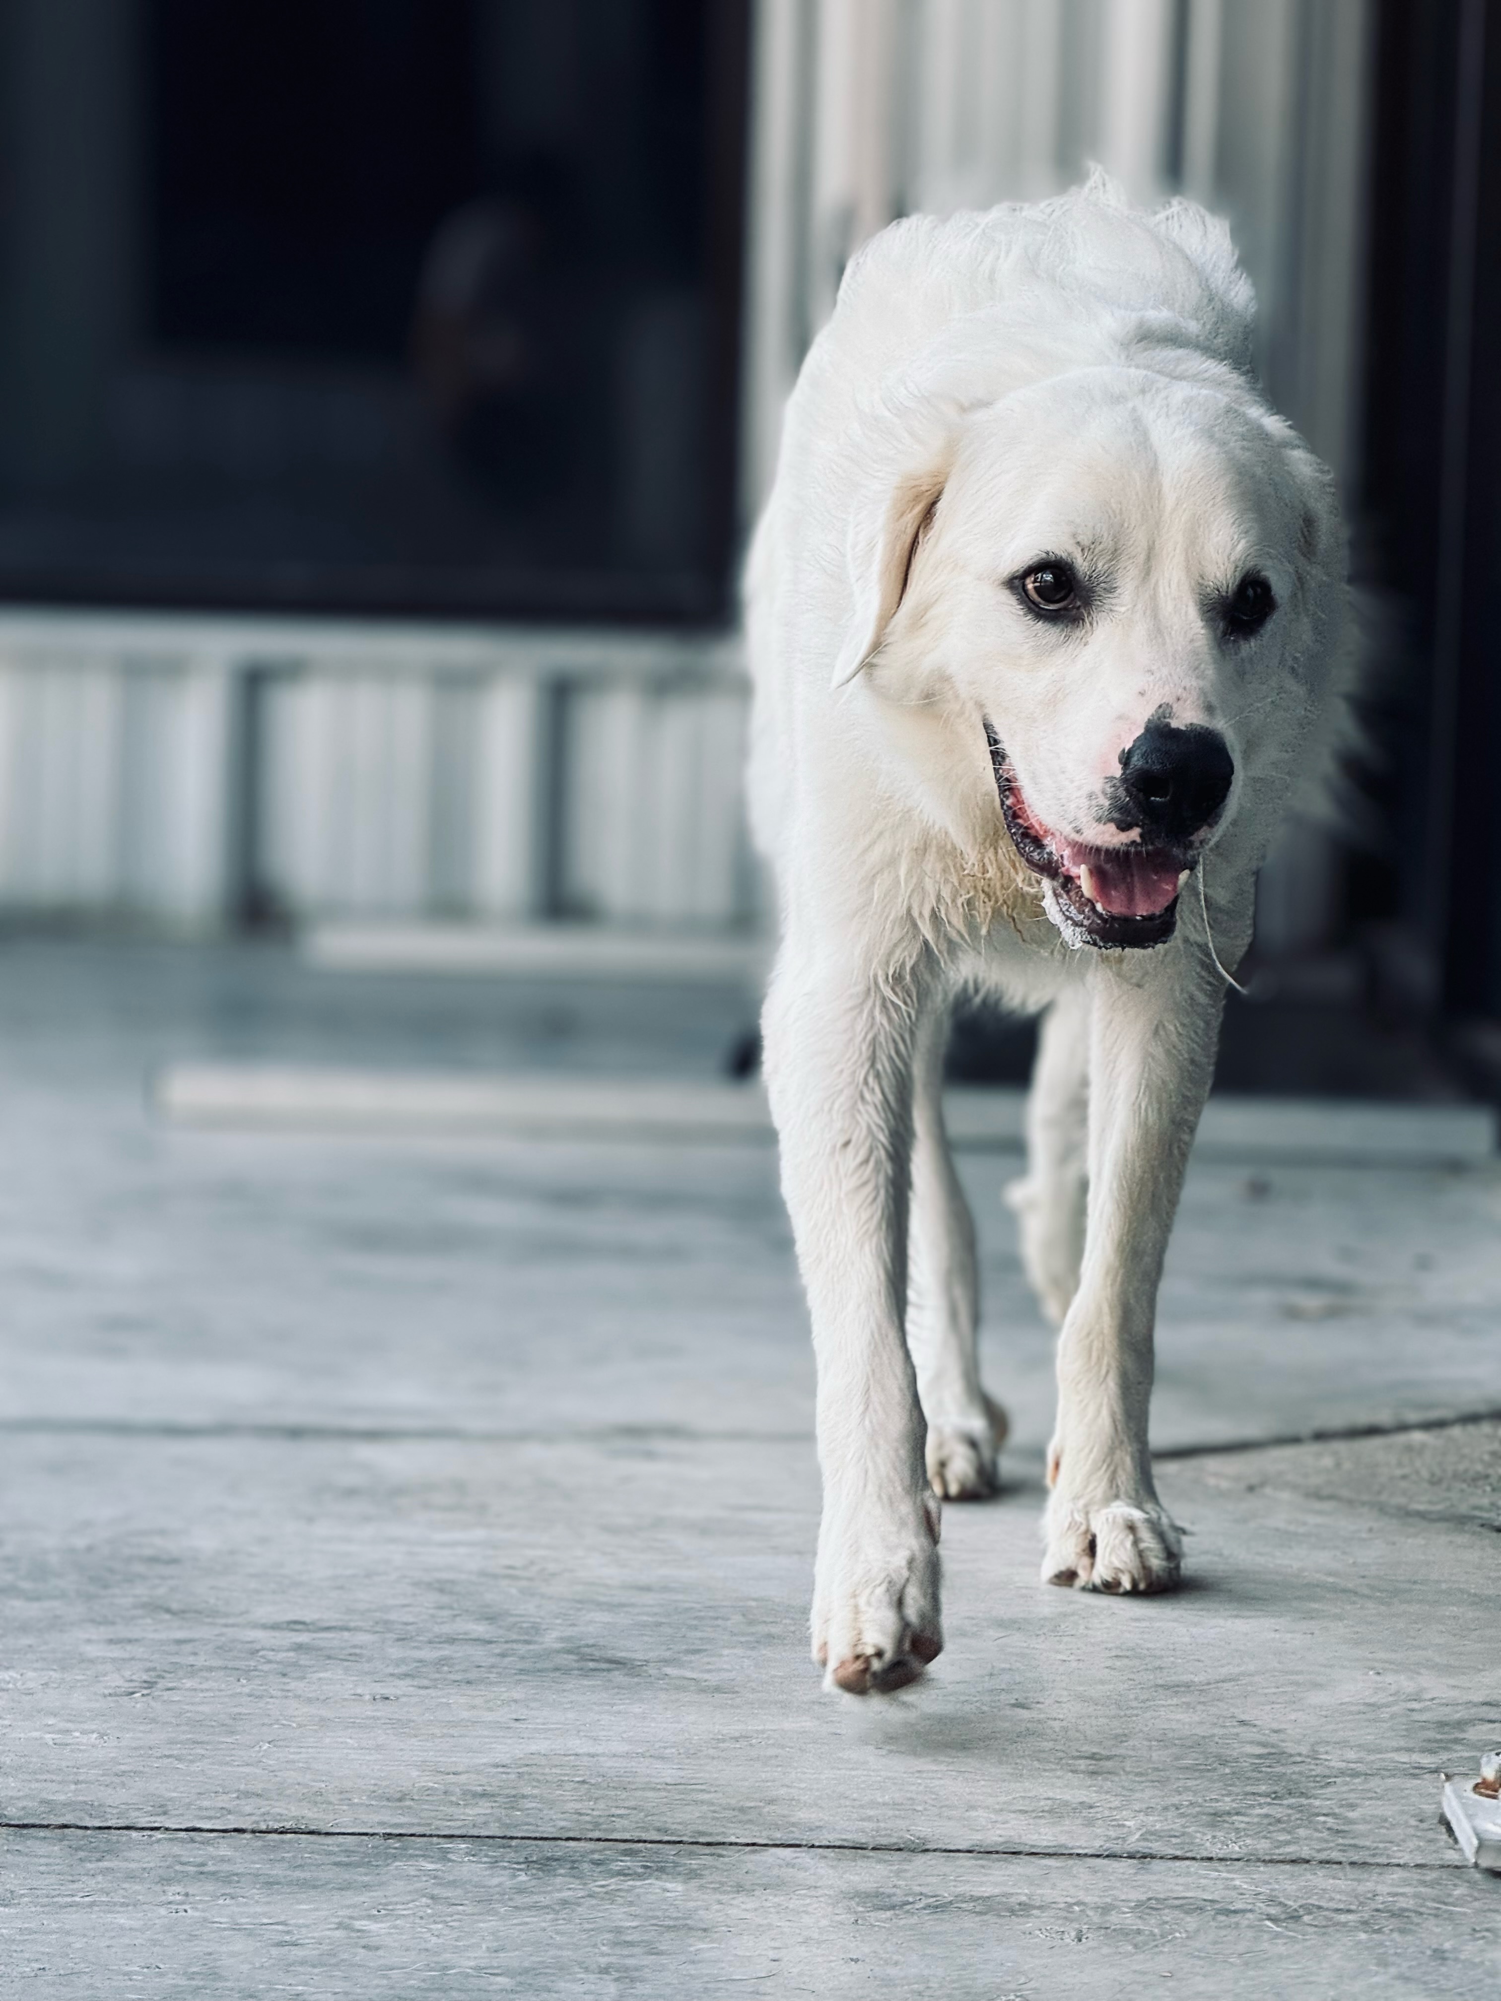
M813 1657L827 1685L901 1689L943 1647L939 1503L907 1353L911 980L783 952L765 1013L767 1089L819 1363L825 1501Z

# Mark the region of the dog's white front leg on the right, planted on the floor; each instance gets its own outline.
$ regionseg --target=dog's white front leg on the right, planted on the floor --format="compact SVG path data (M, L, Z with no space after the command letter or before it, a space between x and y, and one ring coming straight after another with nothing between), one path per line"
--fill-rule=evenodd
M1091 968L1089 1225L1059 1335L1043 1577L1169 1591L1181 1539L1147 1451L1157 1283L1209 1091L1223 988L1181 946Z

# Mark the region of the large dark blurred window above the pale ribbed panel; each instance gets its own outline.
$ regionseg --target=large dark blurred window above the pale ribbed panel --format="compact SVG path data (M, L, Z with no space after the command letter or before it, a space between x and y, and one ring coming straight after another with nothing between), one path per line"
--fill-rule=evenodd
M0 594L712 618L744 10L10 0Z

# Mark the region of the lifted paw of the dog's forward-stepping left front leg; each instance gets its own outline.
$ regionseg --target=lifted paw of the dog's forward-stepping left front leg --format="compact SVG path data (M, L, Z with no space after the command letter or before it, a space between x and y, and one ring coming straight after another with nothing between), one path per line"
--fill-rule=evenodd
M891 1695L943 1653L939 1617L939 1503L879 1533L825 1529L813 1599L813 1659L825 1689Z

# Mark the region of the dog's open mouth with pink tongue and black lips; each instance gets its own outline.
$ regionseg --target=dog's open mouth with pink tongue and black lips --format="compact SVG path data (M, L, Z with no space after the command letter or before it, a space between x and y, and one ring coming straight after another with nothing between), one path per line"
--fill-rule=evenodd
M1069 944L1129 950L1171 938L1193 854L1141 844L1093 848L1053 832L1027 804L989 722L985 734L1011 844L1047 882L1043 904Z

